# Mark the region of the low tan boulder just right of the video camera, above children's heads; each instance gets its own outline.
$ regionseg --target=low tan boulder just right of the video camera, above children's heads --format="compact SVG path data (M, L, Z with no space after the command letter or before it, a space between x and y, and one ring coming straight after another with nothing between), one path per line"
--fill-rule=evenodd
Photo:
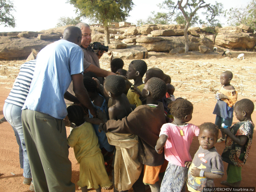
M109 49L115 58L121 59L147 59L148 51L143 46L129 45L126 49ZM108 59L108 54L104 53L102 59Z

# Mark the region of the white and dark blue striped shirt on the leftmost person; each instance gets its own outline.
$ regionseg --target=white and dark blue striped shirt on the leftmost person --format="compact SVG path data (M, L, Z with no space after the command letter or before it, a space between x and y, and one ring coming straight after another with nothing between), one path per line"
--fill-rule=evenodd
M36 67L36 59L23 63L20 66L20 72L16 78L13 89L5 100L7 103L23 107L28 96L31 81Z

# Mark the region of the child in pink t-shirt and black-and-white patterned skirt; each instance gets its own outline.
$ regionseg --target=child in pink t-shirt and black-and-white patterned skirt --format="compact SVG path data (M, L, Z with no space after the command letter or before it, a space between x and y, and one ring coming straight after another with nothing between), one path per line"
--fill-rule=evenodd
M160 137L156 143L156 152L162 153L164 147L165 159L169 161L160 191L185 191L187 172L192 158L189 148L194 136L198 136L199 128L187 123L192 119L193 105L185 99L178 99L171 104L174 116L172 123L161 127Z

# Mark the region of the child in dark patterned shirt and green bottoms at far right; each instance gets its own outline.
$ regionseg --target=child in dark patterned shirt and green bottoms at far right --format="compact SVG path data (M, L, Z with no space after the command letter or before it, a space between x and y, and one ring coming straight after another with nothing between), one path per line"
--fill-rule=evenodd
M249 99L241 99L236 102L234 111L240 121L228 129L221 128L222 134L226 134L226 145L221 155L223 161L228 163L227 180L222 185L239 187L242 177L241 170L245 164L251 148L254 124L251 114L254 104Z

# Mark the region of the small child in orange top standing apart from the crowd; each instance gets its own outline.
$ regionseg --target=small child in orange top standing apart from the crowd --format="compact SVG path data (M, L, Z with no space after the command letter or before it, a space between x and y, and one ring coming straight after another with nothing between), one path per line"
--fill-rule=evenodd
M220 75L220 84L222 84L222 87L215 95L215 98L218 100L213 110L213 114L216 115L215 125L217 125L219 129L222 123L228 127L232 125L234 104L237 101L237 91L230 85L232 78L233 74L230 71L225 71ZM217 143L224 141L225 134L222 133L222 137L218 139Z

